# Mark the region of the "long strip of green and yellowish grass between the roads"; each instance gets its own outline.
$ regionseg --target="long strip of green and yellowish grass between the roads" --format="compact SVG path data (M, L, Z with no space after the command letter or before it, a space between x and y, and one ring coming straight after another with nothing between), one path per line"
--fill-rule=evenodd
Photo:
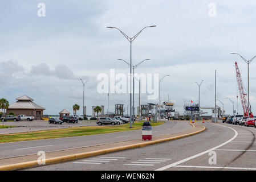
M161 125L164 122L151 123L152 126ZM0 143L5 142L20 142L25 140L39 140L49 138L62 138L62 137L78 137L83 135L95 135L103 133L112 133L118 131L137 130L141 129L142 121L132 123L132 128L129 128L129 123L123 125L103 125L103 126L81 126L71 127L67 129L53 129L41 131L29 131L23 133L12 133L0 135Z

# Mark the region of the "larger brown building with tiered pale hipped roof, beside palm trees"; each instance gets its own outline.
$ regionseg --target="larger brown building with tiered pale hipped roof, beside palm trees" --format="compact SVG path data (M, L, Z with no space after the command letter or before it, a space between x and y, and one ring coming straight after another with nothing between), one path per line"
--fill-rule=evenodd
M9 114L13 112L15 115L25 114L28 116L34 116L35 119L41 119L43 117L43 110L45 110L42 106L35 104L32 98L28 96L21 96L16 98L16 102L10 104L6 113Z

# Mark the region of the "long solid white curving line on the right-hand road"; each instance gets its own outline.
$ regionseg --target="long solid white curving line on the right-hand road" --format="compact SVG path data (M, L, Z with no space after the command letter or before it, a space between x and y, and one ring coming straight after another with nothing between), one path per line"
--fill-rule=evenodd
M219 125L219 126L222 126L222 125ZM227 127L227 126L223 126L223 127ZM233 131L235 132L235 135L234 135L234 137L232 137L231 139L227 140L226 142L224 142L224 143L222 143L222 144L220 144L220 145L218 145L218 146L216 146L216 147L213 147L213 148L211 148L211 149L209 149L209 150L206 150L206 151L204 151L204 152L201 152L201 153L199 153L199 154L190 156L189 158L182 159L182 160L179 160L178 162L175 162L175 163L169 164L169 165L167 165L167 166L164 166L164 167L155 169L155 171L163 171L163 170L165 170L165 169L168 169L168 168L177 166L178 164L187 162L188 160L197 158L198 156L207 154L207 153L209 153L210 151L216 150L217 148L220 148L220 147L222 147L222 146L225 146L225 144L227 144L227 143L231 142L232 140L234 140L235 138L237 138L237 135L238 135L237 131L235 131L233 128L231 128L231 127L227 127L227 128L233 130Z

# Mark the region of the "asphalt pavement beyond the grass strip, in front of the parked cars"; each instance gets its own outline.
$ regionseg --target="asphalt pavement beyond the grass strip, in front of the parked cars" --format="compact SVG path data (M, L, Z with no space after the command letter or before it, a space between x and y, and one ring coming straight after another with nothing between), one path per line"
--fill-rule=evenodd
M27 131L39 131L39 130L52 130L66 127L78 127L78 126L97 126L96 121L78 121L78 123L62 123L62 125L49 124L48 121L8 121L4 122L4 125L18 126L6 129L0 129L0 134L8 133L20 133ZM2 122L0 122L2 125Z

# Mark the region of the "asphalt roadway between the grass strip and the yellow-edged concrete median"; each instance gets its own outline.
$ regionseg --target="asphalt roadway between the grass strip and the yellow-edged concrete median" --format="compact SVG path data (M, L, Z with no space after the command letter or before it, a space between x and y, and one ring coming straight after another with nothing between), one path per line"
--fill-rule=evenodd
M99 126L101 127L101 126ZM177 133L188 130L192 126L187 121L172 121L153 127L153 136ZM141 130L120 131L115 133L86 135L81 137L66 137L55 139L30 140L23 142L0 143L0 158L10 158L38 151L56 151L67 148L91 146L95 144L119 142L141 138Z

